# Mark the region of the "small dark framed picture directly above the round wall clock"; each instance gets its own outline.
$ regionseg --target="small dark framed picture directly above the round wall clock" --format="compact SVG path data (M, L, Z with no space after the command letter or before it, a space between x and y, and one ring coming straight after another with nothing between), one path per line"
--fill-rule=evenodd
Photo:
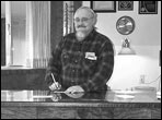
M134 1L118 1L118 10L119 11L132 11Z

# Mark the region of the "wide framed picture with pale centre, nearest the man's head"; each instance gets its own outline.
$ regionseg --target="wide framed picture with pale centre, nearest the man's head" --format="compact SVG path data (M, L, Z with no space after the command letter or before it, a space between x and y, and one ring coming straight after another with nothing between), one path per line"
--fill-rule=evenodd
M116 12L116 1L91 1L94 12Z

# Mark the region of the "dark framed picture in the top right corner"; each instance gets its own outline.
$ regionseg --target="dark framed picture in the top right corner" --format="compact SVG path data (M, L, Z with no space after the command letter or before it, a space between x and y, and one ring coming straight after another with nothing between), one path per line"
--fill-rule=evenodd
M158 14L158 1L139 1L139 14Z

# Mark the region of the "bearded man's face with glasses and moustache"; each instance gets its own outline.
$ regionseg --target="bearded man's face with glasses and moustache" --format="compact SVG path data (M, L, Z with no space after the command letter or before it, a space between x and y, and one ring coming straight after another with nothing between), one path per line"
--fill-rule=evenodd
M77 35L79 37L85 37L94 26L94 16L93 14L85 10L81 9L74 14L74 27Z

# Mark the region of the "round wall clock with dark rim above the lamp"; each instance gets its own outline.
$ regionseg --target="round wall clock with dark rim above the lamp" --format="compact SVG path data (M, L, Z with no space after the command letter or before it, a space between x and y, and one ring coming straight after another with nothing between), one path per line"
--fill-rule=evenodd
M135 21L130 16L121 16L116 23L116 29L123 35L129 35L135 29Z

